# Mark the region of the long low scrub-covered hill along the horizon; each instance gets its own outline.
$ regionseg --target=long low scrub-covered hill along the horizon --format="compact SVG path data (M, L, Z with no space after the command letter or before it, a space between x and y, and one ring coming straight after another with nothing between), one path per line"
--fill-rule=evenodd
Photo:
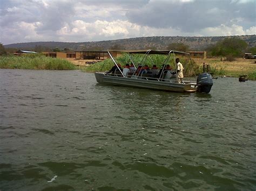
M231 36L229 36L231 37ZM232 36L234 37L234 36ZM249 47L256 46L256 35L235 36L248 43ZM213 45L227 37L140 37L119 40L92 41L84 43L63 43L63 42L34 42L34 43L17 43L4 45L5 48L18 48L32 50L36 46L49 48L69 48L74 51L94 49L166 49L171 43L184 43L193 51L204 51L209 45Z

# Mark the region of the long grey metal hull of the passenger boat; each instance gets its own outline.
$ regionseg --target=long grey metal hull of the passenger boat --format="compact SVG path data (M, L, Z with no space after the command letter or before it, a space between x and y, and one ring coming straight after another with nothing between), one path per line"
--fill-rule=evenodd
M112 84L116 86L127 86L137 88L147 88L164 91L176 91L176 92L194 92L197 90L195 84L192 83L172 83L170 80L158 81L148 80L146 78L134 77L119 77L106 75L105 73L95 73L95 77L98 83Z

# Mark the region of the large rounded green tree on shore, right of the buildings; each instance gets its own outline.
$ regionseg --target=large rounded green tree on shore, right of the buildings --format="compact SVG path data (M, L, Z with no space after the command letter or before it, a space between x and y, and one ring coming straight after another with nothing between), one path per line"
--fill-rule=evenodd
M247 48L247 43L237 37L225 38L213 46L210 51L213 56L242 56Z

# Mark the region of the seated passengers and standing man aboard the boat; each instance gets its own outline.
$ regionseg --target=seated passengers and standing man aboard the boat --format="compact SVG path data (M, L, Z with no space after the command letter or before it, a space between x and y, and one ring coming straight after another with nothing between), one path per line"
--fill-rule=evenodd
M176 64L177 64L178 79L180 81L181 79L183 79L184 68L182 64L179 62L178 58L176 59ZM163 77L163 74L165 74L165 76L168 76L168 77L176 74L176 72L173 71L170 65L163 65L160 70L158 70L158 67L156 65L153 65L151 69L147 65L144 65L144 66L139 65L138 68L136 69L133 63L131 63L131 65L129 65L129 63L126 63L124 68L121 67L120 63L117 63L117 65L114 65L106 73L116 74L117 71L122 72L124 76L127 76L127 75L140 76L142 74L151 74L152 77L157 77L157 78Z

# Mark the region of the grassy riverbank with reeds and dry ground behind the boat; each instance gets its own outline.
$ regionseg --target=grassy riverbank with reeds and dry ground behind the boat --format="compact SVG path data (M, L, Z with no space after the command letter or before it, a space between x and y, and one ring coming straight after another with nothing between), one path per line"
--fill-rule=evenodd
M162 56L155 58L155 63L163 63ZM118 58L120 63L126 63L125 56ZM182 60L182 63L185 63ZM87 62L96 62L87 64ZM193 73L201 73L203 71L203 63L210 65L210 72L214 76L231 76L239 77L239 75L247 75L249 80L256 80L256 63L250 59L236 59L235 61L221 61L220 59L194 59ZM104 66L103 66L104 65ZM80 69L83 72L99 72L109 70L113 66L110 59L99 60L74 60L74 59L58 59L46 57L43 55L29 56L0 56L0 68L9 69L49 69L49 70L73 70ZM151 66L151 63L149 63ZM159 64L158 67L161 67ZM174 67L174 66L172 66ZM191 67L184 66L186 69ZM185 71L185 74L191 71ZM193 74L191 73L191 74Z

